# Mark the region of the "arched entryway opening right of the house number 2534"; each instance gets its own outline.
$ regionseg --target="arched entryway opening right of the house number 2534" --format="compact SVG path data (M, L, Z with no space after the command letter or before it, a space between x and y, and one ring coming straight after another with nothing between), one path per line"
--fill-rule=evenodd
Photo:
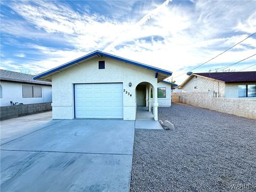
M141 82L136 86L136 104L137 104L137 120L150 120L154 119L158 121L157 115L157 87L154 87L151 83ZM153 113L151 113L151 107L153 107Z

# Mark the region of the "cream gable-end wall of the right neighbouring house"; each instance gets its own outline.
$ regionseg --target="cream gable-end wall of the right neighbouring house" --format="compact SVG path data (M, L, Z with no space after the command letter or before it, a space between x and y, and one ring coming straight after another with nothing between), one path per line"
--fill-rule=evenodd
M195 89L195 87L198 89ZM206 92L206 91L219 92L219 97L225 97L225 83L206 79L203 77L194 76L183 87L182 92Z

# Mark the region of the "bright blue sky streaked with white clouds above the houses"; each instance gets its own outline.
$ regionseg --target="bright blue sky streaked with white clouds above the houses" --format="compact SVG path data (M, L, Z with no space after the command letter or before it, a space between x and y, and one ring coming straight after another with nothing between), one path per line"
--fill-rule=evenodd
M38 74L101 50L173 71L181 83L255 32L256 1L1 1L1 68ZM193 72L255 50L256 35ZM254 56L227 69L255 64Z

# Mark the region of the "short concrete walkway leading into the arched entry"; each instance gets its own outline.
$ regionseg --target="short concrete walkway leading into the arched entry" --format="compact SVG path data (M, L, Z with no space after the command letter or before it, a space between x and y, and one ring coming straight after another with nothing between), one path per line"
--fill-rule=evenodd
M148 107L137 106L135 129L160 129L163 127L154 120L153 114L148 111Z

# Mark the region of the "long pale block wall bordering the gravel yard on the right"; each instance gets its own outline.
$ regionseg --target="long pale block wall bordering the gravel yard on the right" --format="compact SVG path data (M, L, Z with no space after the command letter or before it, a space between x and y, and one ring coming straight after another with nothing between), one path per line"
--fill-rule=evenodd
M212 98L211 92L172 93L180 102L222 113L256 119L256 99Z

